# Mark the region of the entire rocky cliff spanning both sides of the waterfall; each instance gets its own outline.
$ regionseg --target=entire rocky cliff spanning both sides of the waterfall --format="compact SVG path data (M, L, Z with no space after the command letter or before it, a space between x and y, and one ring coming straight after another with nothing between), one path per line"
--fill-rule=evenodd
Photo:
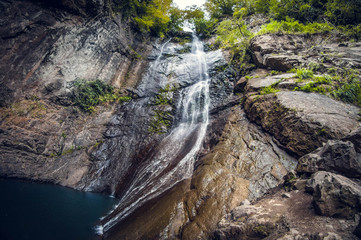
M198 77L190 34L145 40L100 0L0 0L0 9L0 176L122 199L102 224L130 210L105 239L356 239L360 109L296 91L311 80L271 70L359 70L359 43L256 36L257 68L240 80L226 52L206 49L209 123L191 176L161 185L172 162L155 177L159 194L137 205L142 181L155 191L147 169ZM81 79L132 99L84 112L72 99ZM179 140L184 151L197 134Z

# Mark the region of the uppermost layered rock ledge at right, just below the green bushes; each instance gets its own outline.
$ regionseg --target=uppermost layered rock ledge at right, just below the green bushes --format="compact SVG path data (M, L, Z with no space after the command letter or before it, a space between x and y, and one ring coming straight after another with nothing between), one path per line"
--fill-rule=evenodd
M252 58L258 67L287 71L318 64L327 68L360 68L360 44L338 44L319 34L266 34L251 40Z

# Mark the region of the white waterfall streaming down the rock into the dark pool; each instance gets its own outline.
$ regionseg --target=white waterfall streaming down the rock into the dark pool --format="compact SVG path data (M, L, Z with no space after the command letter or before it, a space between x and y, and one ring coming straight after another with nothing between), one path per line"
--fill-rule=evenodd
M166 42L161 48L167 44ZM132 213L146 201L159 196L178 182L190 178L193 173L194 161L202 147L206 135L209 112L209 85L206 54L203 44L193 36L191 58L188 64L197 64L197 77L182 88L178 100L178 121L171 133L165 137L147 160L147 164L139 166L134 173L133 180L127 186L119 204L115 207L111 217L102 221L99 229L109 230L117 222ZM153 75L154 67L159 66L161 54L150 69ZM152 72L153 71L153 72Z

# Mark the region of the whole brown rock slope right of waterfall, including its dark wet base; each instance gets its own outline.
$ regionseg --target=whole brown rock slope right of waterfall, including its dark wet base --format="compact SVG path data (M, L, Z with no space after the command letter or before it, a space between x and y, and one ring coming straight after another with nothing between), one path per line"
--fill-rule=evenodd
M151 208L136 211L137 221L125 219L110 231L110 239L125 236L207 239L230 209L246 198L261 196L277 186L287 171L294 169L296 160L279 149L271 136L251 124L239 106L213 113L211 119L209 128L214 130L209 131L209 135L216 127L219 131L219 121L227 124L221 127L218 142L212 143L215 146L196 162L189 185L176 186ZM173 199L174 195L182 197ZM167 210L159 214L157 209ZM158 216L168 220L160 222ZM147 229L137 228L139 221L147 223ZM162 229L161 235L150 229Z

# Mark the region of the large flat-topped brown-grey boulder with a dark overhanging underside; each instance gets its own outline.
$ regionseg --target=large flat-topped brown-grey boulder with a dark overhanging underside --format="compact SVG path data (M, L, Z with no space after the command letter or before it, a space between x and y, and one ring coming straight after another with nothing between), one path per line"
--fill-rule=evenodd
M360 125L357 107L316 93L249 95L244 107L252 121L298 156L328 139L345 137Z

